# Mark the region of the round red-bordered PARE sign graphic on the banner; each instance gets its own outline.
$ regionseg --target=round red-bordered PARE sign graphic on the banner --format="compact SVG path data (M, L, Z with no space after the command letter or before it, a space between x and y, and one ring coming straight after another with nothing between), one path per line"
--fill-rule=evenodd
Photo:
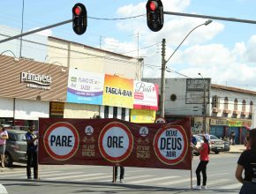
M55 160L68 160L79 148L79 133L71 123L54 123L43 139L47 153Z

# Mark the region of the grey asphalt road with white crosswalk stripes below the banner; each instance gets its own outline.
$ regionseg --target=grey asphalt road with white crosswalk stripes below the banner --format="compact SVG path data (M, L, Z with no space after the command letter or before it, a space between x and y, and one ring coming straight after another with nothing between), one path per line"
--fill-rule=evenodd
M201 193L238 193L241 187L235 179L239 153L211 154L207 168L207 190ZM195 168L199 157L192 161L192 183L196 183ZM118 169L119 170L119 169ZM27 193L198 193L191 189L191 171L125 168L124 183L111 183L112 167L78 165L41 165L39 181L26 180L26 166L17 164L3 168L0 183L9 194Z

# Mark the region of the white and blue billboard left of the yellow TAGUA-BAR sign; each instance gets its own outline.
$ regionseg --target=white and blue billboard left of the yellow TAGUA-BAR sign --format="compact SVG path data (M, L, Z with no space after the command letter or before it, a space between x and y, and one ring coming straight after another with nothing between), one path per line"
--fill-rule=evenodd
M104 74L70 69L67 102L102 105Z

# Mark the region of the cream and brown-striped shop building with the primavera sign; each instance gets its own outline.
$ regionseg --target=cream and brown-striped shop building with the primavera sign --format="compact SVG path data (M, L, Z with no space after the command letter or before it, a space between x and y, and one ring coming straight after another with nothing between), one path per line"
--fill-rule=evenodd
M19 30L5 28L3 39L19 34ZM0 123L27 126L39 117L129 121L130 108L66 101L68 75L76 69L140 80L141 59L39 34L23 38L19 57L19 43L13 40L0 47Z

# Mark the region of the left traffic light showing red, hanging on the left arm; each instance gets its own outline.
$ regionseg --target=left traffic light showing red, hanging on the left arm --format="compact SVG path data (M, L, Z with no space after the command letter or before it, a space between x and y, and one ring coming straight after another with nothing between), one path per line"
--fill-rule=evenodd
M72 8L72 13L75 34L84 34L87 30L87 8L83 4L75 4Z

